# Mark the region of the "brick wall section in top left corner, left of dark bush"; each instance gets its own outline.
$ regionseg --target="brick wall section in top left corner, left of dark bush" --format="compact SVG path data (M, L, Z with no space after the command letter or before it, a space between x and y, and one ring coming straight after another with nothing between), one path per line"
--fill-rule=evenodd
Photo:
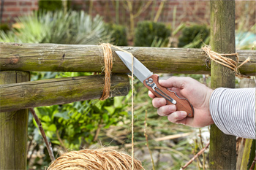
M0 1L1 10L1 23L13 23L15 18L20 15L25 15L28 12L37 10L38 2L37 0L3 0Z

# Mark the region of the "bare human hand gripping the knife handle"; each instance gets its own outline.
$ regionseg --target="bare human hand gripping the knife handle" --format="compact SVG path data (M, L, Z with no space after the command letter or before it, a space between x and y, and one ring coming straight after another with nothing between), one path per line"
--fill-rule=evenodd
M167 80L159 80L159 84L175 91L179 97L187 98L194 108L194 117L187 117L187 112L176 111L174 104L166 105L165 98L156 98L151 91L148 91L148 96L154 98L152 104L158 108L158 115L167 116L172 123L197 128L214 123L209 109L209 101L213 92L211 88L190 77L170 77Z

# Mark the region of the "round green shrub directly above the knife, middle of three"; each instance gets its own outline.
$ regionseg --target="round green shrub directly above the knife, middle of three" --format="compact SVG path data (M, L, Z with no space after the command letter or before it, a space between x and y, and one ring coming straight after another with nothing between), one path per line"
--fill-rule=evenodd
M135 46L151 47L154 41L167 42L170 36L170 29L163 23L143 21L135 28Z

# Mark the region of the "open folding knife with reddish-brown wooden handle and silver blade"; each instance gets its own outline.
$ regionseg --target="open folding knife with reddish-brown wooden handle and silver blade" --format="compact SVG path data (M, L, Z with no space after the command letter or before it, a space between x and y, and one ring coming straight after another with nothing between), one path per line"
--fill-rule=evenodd
M132 56L129 53L116 51L116 54L121 58L121 61L132 72ZM193 117L194 109L187 98L180 98L176 92L164 88L159 85L159 76L150 72L143 63L140 63L137 58L133 57L133 74L143 82L143 84L159 98L165 98L168 104L175 104L178 111L187 112L188 117Z

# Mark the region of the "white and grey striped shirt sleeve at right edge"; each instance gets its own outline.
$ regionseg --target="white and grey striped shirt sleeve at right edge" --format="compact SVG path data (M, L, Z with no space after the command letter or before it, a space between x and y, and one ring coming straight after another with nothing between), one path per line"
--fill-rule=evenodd
M211 94L211 117L223 133L255 139L255 90L217 88Z

